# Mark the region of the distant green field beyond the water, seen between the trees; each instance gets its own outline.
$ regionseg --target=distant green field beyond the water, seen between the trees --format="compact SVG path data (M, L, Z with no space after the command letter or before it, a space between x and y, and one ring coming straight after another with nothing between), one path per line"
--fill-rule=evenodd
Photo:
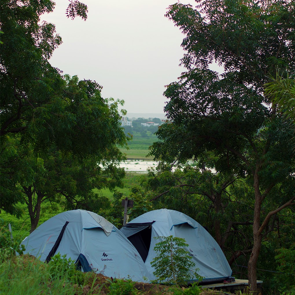
M121 151L126 154L127 159L153 159L146 157L149 153L149 147L153 142L158 141L156 135L148 133L148 137L141 137L139 133L133 134L133 139L128 142L129 150L122 148Z

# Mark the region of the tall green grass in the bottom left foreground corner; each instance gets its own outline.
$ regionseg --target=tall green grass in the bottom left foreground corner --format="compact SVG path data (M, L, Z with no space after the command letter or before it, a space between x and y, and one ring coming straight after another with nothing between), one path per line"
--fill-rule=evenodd
M3 294L92 294L88 282L91 273L76 270L75 263L55 255L46 264L31 255L12 256L1 262ZM87 285L88 292L85 293Z

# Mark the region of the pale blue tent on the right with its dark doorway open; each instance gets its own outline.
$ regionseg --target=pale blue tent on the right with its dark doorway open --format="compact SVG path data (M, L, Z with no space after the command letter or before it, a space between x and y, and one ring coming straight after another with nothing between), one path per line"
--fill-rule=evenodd
M148 279L153 280L150 262L156 256L154 246L161 240L154 237L184 238L189 244L186 249L192 261L199 268L203 282L223 281L232 275L232 270L217 242L198 222L181 212L160 209L147 212L127 223L120 231L137 248L148 271Z

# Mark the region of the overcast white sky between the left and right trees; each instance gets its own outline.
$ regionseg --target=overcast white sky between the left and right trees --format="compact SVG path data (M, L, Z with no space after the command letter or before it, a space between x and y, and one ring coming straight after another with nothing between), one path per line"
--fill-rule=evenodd
M129 113L163 113L165 85L184 70L178 66L184 35L164 17L176 0L82 2L88 6L86 21L65 16L67 0L56 1L54 12L43 15L63 39L50 63L95 80L104 98L124 99Z

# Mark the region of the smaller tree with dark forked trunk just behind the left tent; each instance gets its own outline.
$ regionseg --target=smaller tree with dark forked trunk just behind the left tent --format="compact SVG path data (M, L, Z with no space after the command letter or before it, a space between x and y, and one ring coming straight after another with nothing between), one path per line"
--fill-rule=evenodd
M103 200L93 189L108 187L113 190L115 186L123 186L124 169L114 163L100 167L100 156L81 160L71 152L51 147L47 154L38 157L31 150L24 160L27 163L26 170L31 170L30 177L21 178L16 186L22 193L19 201L28 208L30 232L37 227L42 204L52 206L57 202L68 210L86 209L97 212L103 207Z

